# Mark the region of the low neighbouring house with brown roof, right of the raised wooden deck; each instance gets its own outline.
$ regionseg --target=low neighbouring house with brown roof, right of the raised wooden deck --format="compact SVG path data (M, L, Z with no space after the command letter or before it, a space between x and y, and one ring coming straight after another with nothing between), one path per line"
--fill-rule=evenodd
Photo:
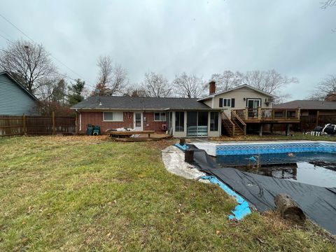
M332 98L331 96L329 97ZM276 109L300 109L300 124L295 130L313 130L317 125L336 124L336 102L295 100L274 106Z

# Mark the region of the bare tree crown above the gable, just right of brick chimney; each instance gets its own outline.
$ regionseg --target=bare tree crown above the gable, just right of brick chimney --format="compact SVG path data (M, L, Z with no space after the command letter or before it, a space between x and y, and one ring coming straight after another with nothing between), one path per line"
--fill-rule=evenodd
M223 71L223 73L214 73L211 79L216 81L218 91L225 91L237 85L241 85L241 76L242 73L238 71L234 73L229 70Z

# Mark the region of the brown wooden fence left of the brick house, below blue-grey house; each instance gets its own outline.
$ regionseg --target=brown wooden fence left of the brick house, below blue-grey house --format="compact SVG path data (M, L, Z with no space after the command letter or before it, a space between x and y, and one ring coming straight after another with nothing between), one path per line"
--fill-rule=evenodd
M74 116L0 116L0 137L50 134L76 134Z

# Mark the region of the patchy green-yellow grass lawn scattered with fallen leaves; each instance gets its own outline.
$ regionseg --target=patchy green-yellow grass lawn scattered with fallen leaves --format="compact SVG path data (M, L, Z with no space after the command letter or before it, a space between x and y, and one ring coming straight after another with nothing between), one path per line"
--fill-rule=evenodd
M309 222L229 221L223 190L165 170L169 144L0 139L0 251L335 251Z

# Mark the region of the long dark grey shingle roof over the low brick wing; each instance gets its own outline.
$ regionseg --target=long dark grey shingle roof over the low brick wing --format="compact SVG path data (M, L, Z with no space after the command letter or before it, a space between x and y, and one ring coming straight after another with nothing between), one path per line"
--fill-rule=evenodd
M99 105L101 103L101 105ZM158 97L89 97L71 109L92 110L212 110L197 98L158 98Z

